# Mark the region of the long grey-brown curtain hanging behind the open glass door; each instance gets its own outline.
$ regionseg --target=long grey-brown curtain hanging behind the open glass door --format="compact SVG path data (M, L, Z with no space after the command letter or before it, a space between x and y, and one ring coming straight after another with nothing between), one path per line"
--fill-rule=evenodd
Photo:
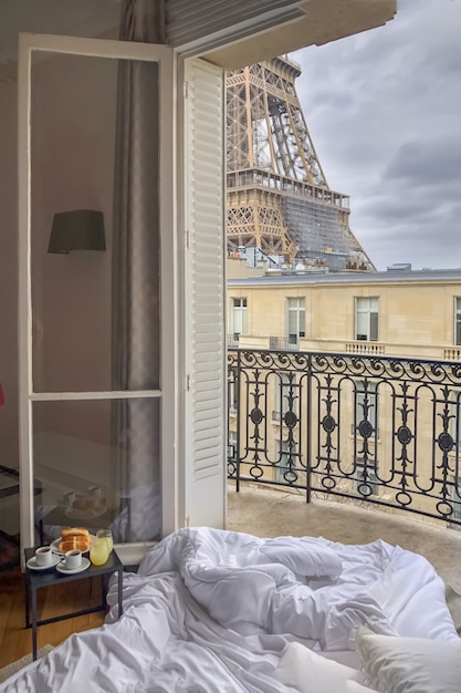
M121 40L159 42L161 3L126 0ZM160 386L158 70L121 61L115 141L112 258L113 390ZM122 497L117 541L161 534L160 400L113 402L112 441Z

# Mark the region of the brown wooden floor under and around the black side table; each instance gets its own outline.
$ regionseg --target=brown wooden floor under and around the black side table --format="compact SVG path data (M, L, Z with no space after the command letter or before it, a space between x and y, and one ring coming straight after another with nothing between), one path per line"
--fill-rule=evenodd
M19 566L0 571L0 669L32 652L32 631L25 628L24 578ZM66 582L38 591L39 619L97 606L102 602L101 579ZM104 622L98 611L38 629L38 648L60 644L72 633Z

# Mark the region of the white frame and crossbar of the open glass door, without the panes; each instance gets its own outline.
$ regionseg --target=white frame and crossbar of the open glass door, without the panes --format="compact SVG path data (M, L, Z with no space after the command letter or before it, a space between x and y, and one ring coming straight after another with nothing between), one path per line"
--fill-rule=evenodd
M133 59L159 64L159 157L161 238L161 364L160 390L130 392L38 393L32 382L31 296L31 55L34 51L107 59ZM20 34L18 61L19 180L19 470L21 548L34 545L32 403L38 401L161 397L163 532L177 526L177 248L176 248L176 59L171 48L128 41Z

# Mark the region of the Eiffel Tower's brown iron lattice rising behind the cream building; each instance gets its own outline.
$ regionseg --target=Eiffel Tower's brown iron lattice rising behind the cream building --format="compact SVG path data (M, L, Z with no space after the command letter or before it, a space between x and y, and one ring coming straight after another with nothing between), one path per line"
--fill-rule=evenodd
M332 190L308 133L286 55L227 74L227 239L332 271L376 268L349 228L349 198ZM298 266L298 265L297 265Z

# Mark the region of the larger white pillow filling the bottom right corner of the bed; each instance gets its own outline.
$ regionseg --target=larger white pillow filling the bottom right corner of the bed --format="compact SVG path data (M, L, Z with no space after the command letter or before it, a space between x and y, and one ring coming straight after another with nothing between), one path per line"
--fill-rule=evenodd
M380 693L461 691L461 640L379 635L362 625L355 644L370 685Z

